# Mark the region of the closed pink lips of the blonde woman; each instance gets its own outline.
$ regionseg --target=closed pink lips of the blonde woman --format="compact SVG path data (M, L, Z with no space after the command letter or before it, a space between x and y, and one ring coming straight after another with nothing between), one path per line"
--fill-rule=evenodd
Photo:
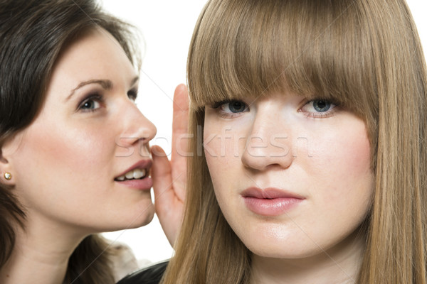
M249 187L241 193L246 207L263 216L278 216L296 207L304 197L277 188Z

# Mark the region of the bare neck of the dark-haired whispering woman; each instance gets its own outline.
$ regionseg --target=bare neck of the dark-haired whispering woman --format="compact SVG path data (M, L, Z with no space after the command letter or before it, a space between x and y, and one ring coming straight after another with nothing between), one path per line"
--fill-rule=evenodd
M27 220L28 221L28 220ZM12 255L0 270L0 283L63 283L68 258L84 236L44 222L16 228Z

